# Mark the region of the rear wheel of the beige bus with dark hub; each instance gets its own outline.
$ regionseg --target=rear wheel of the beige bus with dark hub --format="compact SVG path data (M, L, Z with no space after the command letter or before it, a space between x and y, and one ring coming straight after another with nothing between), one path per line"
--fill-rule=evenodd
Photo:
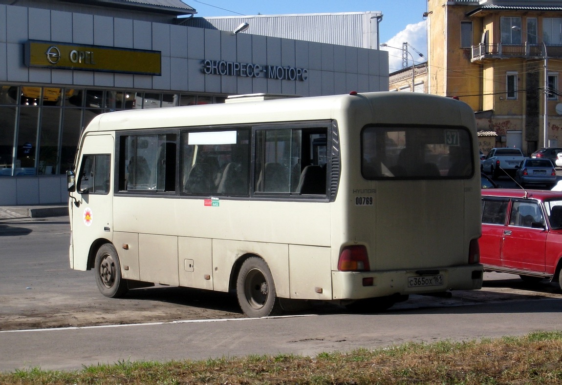
M268 264L252 256L244 261L236 279L240 308L248 317L260 318L282 313Z

